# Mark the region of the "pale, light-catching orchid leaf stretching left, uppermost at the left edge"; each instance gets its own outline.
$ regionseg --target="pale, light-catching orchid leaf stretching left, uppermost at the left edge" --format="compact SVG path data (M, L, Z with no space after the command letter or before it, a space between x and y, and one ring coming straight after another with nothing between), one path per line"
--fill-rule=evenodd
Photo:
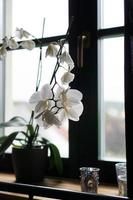
M10 127L10 126L14 126L14 127L26 126L26 124L27 124L27 121L23 117L15 116L7 122L0 123L0 128Z

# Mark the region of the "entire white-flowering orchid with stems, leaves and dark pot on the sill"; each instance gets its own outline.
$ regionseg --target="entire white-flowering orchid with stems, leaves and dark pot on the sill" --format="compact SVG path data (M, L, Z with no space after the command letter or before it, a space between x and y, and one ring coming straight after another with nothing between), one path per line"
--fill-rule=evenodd
M71 26L70 26L71 27ZM0 154L3 154L12 145L13 167L16 180L19 182L38 182L44 177L46 168L54 168L62 173L62 160L58 147L39 134L39 128L47 129L51 126L60 128L64 119L78 121L83 112L82 93L71 89L69 84L74 79L71 70L74 63L65 48L70 27L65 39L48 44L46 57L55 57L55 67L50 83L40 87L42 75L42 44L35 92L29 98L32 104L30 119L27 122L22 116L15 116L7 122L0 123L0 128L22 127L25 129L15 130L9 135L0 138ZM44 30L43 30L44 32ZM42 34L43 35L43 34ZM35 37L24 29L17 29L15 37L5 37L0 46L0 58L6 56L8 49L26 48L32 50L35 46ZM22 38L31 37L22 41ZM62 72L63 69L63 72ZM62 73L61 73L62 72ZM48 161L48 152L49 162Z

